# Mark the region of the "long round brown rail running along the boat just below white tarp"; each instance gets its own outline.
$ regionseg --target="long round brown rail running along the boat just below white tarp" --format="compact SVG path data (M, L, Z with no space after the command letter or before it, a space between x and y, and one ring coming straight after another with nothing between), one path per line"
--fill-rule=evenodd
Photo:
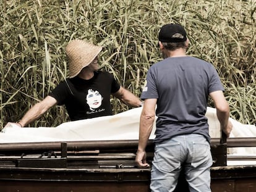
M33 143L1 143L0 152L4 151L46 151L61 149L60 143L67 143L67 150L82 151L91 149L136 149L138 140L112 140L112 141L54 141ZM211 146L220 144L220 138L211 138ZM153 148L153 140L148 141L148 148ZM228 138L227 148L256 147L256 138Z

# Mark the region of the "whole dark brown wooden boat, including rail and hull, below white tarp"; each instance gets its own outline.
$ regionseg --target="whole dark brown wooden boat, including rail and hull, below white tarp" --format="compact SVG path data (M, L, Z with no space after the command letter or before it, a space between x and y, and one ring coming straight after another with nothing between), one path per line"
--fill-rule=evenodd
M0 144L0 191L150 191L150 168L134 163L137 140ZM227 165L227 148L256 146L256 138L211 139L211 190L256 191L256 164ZM148 161L153 157L148 142ZM189 191L181 174L176 191Z

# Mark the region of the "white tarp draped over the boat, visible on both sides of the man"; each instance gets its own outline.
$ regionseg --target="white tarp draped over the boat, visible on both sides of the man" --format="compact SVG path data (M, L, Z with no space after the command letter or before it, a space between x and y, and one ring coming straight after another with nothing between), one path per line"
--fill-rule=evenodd
M58 127L8 127L0 133L0 143L23 143L40 141L91 141L91 140L137 140L142 107L120 114L62 123ZM207 107L211 138L220 138L220 123L216 109ZM230 137L255 137L254 125L244 125L234 119ZM155 130L155 124L153 129ZM150 139L155 138L154 130ZM229 149L232 154L255 154L256 148Z

